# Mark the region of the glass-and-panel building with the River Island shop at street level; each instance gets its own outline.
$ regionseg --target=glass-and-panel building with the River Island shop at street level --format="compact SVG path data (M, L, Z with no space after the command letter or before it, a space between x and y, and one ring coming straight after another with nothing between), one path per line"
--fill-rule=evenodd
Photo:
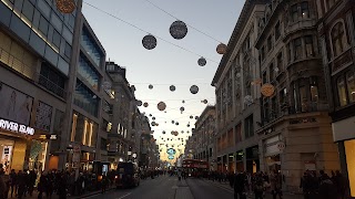
M81 1L0 1L1 160L9 169L55 168L74 63Z

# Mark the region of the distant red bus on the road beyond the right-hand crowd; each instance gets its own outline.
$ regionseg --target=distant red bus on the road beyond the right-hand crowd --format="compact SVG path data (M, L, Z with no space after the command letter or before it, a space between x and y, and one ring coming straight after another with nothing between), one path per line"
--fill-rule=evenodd
M200 159L184 159L182 161L182 168L190 177L207 177L209 163Z

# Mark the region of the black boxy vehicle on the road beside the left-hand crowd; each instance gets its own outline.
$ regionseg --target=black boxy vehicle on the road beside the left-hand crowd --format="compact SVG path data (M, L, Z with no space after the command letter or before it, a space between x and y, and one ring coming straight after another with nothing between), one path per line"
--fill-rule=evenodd
M116 188L138 187L140 179L140 170L135 163L119 163L115 175Z

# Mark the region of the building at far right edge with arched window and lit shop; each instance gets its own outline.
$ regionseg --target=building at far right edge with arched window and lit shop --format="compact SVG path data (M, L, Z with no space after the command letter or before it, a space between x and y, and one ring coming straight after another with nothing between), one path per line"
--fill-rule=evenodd
M355 198L355 6L348 0L320 0L317 12L333 138Z

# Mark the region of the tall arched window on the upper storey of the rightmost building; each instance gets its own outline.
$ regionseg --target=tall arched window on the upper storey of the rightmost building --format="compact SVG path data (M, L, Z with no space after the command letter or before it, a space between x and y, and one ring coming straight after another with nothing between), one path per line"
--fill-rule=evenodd
M333 45L333 55L338 56L345 51L347 46L346 35L344 31L344 24L337 22L331 32L332 45Z

